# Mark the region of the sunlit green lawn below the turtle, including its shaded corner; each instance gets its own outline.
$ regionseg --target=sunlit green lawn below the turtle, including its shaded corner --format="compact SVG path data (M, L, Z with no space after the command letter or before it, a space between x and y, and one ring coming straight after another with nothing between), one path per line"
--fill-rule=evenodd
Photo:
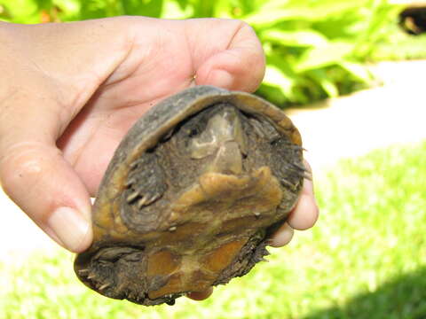
M393 147L317 174L317 226L209 300L107 300L59 252L0 264L0 318L425 318L425 153L426 142Z

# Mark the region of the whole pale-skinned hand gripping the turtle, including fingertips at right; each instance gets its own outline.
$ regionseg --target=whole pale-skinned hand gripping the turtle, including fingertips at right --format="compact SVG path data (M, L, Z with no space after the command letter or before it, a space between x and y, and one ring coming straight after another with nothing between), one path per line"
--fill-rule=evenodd
M0 22L0 43L0 182L44 232L75 253L91 245L90 198L107 163L147 109L199 84L253 92L264 76L256 34L232 19ZM271 245L287 245L318 214L305 180Z

